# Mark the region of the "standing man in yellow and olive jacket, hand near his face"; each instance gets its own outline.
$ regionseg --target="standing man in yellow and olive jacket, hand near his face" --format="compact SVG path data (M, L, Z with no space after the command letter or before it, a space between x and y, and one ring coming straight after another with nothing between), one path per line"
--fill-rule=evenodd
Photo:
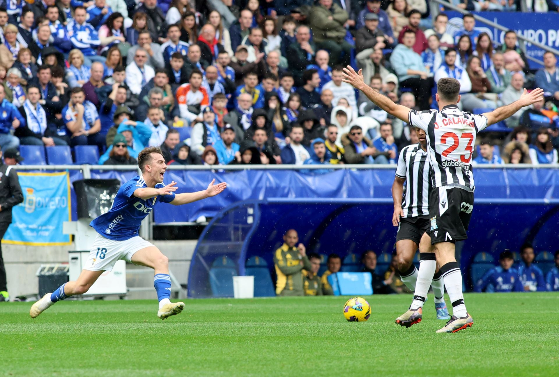
M276 267L276 294L278 296L304 296L302 270L310 270L305 245L299 244L299 235L290 229L283 236L283 245L274 253Z

